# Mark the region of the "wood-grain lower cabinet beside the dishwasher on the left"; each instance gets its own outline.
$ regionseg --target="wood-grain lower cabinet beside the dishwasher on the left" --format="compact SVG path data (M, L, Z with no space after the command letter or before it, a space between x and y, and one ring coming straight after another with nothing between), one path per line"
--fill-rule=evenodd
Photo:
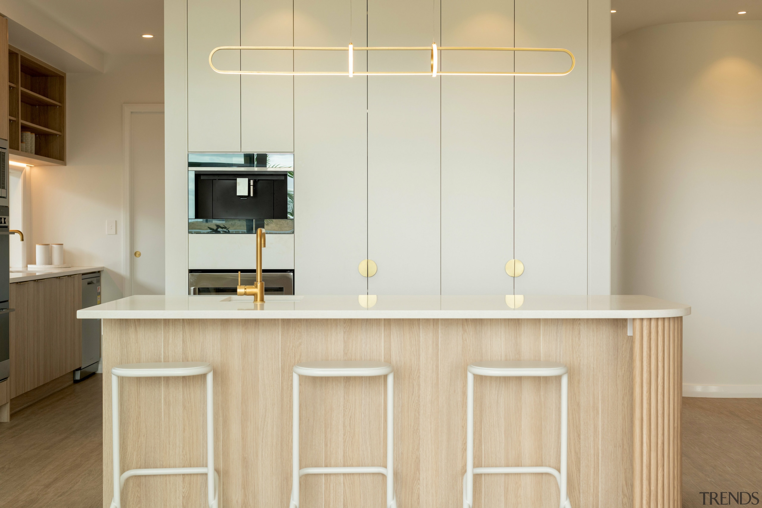
M11 398L82 363L82 276L11 284Z

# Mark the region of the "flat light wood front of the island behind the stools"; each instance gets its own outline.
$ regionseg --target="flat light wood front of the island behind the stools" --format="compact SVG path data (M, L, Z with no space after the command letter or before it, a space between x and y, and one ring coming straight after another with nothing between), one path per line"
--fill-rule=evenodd
M119 363L214 366L220 506L288 506L291 369L315 359L395 368L400 508L462 506L466 366L546 359L569 366L572 506L631 506L632 340L624 320L105 320L104 372ZM110 375L104 375L104 508L112 496ZM386 465L383 378L303 377L301 467ZM201 465L203 376L123 379L122 471ZM559 467L559 379L478 376L475 465ZM383 476L309 475L303 508L383 508ZM200 475L130 478L124 506L202 506ZM475 506L558 506L549 475L479 475Z

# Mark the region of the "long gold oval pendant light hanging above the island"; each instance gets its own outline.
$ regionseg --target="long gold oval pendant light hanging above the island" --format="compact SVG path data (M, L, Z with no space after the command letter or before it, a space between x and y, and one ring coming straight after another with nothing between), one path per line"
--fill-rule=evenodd
M212 63L214 53L223 50L286 50L286 51L348 51L349 69L343 71L226 71L217 69ZM251 74L251 75L281 75L281 76L565 76L575 67L575 57L569 50L562 48L504 48L504 47L440 47L439 51L543 51L549 53L566 53L571 59L571 65L564 72L437 72L434 62L437 61L437 45L431 46L391 46L391 47L354 47L351 44L343 47L319 46L219 46L209 53L209 65L219 74ZM431 51L432 69L428 72L354 72L354 51Z

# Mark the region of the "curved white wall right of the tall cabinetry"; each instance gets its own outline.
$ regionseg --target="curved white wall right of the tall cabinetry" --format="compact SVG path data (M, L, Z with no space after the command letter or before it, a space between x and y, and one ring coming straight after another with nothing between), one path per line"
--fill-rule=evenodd
M762 396L762 21L630 32L613 72L613 292L693 306L686 395Z

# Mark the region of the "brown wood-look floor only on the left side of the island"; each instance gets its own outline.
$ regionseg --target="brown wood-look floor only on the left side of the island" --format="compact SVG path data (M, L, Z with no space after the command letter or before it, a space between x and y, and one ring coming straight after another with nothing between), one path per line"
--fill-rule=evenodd
M101 506L101 379L92 375L0 423L2 508Z

